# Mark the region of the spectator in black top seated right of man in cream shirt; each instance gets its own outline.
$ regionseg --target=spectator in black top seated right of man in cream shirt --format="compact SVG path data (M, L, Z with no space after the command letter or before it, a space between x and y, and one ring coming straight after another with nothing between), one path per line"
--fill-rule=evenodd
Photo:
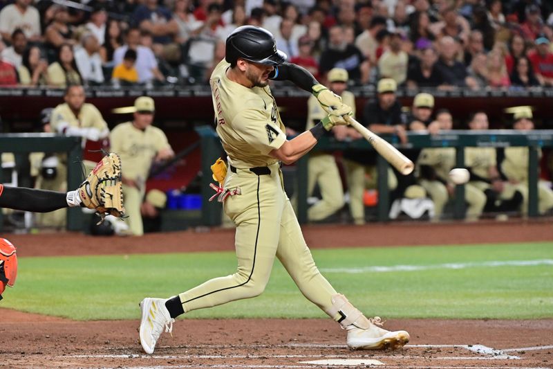
M438 59L436 52L428 43L409 64L407 71L407 87L417 89L419 87L438 87L443 83L442 73L436 66Z

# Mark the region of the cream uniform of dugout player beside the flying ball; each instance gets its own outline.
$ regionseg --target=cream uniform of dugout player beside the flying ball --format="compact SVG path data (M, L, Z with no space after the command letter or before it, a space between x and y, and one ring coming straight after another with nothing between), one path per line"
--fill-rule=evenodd
M421 165L429 165L442 181L449 181L449 171L455 167L456 150L453 147L427 147L422 149L417 159L417 172L420 173ZM442 181L419 179L420 186L427 190L434 203L435 217L439 218L443 213L445 204L449 199L447 187ZM466 219L476 220L482 214L486 205L486 195L482 190L470 183L465 184L465 201L467 202Z

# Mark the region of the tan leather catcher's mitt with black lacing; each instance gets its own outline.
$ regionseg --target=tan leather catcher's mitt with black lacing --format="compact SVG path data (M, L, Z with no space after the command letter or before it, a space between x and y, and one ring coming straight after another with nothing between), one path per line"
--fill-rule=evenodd
M81 206L106 215L124 217L121 159L111 152L99 161L78 188Z

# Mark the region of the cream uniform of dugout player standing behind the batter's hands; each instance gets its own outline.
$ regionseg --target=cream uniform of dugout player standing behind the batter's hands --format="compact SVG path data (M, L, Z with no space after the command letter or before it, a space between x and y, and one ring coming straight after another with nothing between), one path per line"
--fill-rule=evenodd
M352 107L355 117L355 96L350 91L341 94L344 104ZM308 118L307 127L310 129L326 116L326 111L321 107L315 96L310 96L307 102ZM334 214L344 206L344 188L341 184L340 173L334 156L325 152L313 152L308 160L308 195L313 193L315 184L321 189L321 201L311 206L308 210L308 219L317 221Z

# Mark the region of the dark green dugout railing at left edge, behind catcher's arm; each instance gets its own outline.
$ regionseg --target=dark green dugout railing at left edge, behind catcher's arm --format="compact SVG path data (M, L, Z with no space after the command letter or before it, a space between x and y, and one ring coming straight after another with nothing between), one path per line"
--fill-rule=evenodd
M65 152L67 154L67 188L75 189L82 181L81 138L59 136L50 133L0 134L0 156L2 152L13 154L45 152L46 154ZM0 183L3 182L0 171ZM67 229L82 229L82 211L80 208L68 208ZM3 230L3 212L0 208L0 232Z

